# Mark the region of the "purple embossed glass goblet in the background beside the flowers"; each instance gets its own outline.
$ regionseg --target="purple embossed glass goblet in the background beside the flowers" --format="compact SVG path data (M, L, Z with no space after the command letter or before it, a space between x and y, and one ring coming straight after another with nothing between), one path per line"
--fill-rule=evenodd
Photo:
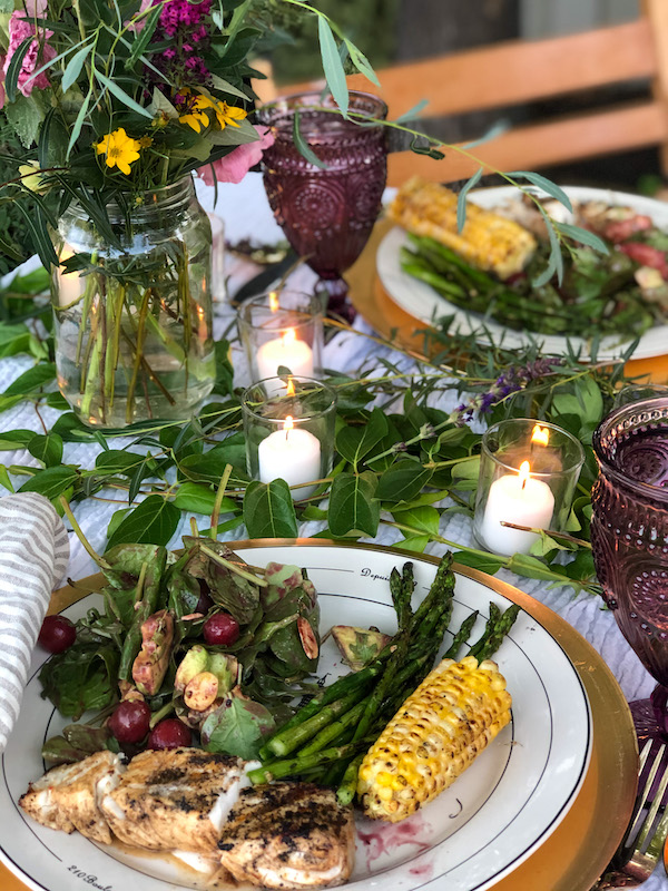
M320 91L288 96L259 111L275 137L264 153L263 169L276 222L320 275L330 313L348 321L355 312L342 273L362 253L381 209L387 148L385 128L372 119L386 114L382 99L357 91L350 94L350 119ZM299 151L296 116L302 139L323 167Z

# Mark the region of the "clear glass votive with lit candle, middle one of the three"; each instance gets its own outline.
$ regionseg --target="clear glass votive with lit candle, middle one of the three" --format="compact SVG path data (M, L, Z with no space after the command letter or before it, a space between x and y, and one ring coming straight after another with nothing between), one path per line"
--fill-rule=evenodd
M242 396L248 474L261 482L283 479L293 501L328 476L334 459L336 393L313 378L285 375L252 384Z

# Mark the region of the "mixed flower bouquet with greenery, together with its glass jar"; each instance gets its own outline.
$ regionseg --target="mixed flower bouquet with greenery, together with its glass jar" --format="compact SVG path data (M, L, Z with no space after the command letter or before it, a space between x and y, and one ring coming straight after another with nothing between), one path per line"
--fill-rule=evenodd
M16 0L13 10L10 0L9 10L0 102L26 156L0 200L22 208L53 270L60 390L90 424L188 417L215 379L210 227L191 174L238 182L271 139L252 124L258 41L317 16L332 71L334 31L301 0Z

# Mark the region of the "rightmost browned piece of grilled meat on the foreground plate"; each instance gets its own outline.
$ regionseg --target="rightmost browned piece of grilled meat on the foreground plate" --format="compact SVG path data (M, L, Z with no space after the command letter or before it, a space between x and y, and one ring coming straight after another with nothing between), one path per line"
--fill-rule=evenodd
M281 889L342 884L354 846L352 809L313 783L243 790L218 842L235 879Z

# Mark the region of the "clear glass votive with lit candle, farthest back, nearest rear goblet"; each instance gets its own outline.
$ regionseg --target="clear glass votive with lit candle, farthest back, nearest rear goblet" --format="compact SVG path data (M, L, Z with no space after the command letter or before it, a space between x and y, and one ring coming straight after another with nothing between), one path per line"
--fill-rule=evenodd
M250 381L274 378L281 368L297 378L322 371L323 295L299 291L269 291L242 304L239 337L246 351Z

